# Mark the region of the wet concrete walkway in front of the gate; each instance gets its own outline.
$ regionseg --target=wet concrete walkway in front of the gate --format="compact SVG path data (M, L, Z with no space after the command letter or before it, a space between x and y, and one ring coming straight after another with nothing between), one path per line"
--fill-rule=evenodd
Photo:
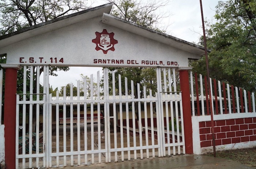
M88 166L67 166L54 169L255 169L223 158L204 155L177 155L143 160L118 161Z

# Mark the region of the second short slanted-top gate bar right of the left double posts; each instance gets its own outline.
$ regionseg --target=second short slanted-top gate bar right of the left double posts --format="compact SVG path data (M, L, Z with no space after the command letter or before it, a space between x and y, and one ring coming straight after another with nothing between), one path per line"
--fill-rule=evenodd
M63 152L67 152L67 110L66 110L66 87L63 88ZM63 157L64 166L67 166L67 155Z

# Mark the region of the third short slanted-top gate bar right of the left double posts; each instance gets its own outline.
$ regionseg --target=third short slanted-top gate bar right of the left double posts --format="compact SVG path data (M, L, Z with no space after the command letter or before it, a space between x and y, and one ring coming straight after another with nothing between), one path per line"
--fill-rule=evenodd
M73 83L70 84L70 101L73 100ZM73 103L70 103L70 151L74 152L74 122ZM74 155L70 156L71 166L74 166Z

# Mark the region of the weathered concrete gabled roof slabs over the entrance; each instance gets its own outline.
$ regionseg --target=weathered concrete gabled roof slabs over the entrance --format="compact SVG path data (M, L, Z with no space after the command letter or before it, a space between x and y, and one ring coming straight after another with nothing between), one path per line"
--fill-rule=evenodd
M123 29L133 34L146 37L148 39L153 39L164 43L166 45L175 47L193 53L200 56L204 55L204 48L193 43L181 40L179 38L143 27L137 24L127 22L125 20L119 19L115 16L110 15L112 9L112 3L101 5L95 8L90 8L84 11L76 12L61 18L53 19L48 22L40 23L31 27L24 28L22 30L3 35L0 37L0 48L10 45L15 42L22 41L24 39L43 34L45 32L53 31L61 27L65 27L74 23L82 22L84 20L92 19L95 17L102 16L102 23Z

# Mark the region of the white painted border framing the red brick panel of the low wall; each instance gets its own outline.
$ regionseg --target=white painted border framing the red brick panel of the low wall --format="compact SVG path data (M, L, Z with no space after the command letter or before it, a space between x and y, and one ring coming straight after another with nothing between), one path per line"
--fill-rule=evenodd
M240 119L240 118L253 118L256 117L256 113L236 113L236 114L219 114L214 115L214 120L228 120L228 119ZM192 131L193 131L193 153L203 154L212 151L212 147L203 147L200 145L200 132L199 122L211 121L211 116L192 116ZM216 146L216 150L229 150L238 148L249 148L256 145L256 141L242 142L229 145Z

